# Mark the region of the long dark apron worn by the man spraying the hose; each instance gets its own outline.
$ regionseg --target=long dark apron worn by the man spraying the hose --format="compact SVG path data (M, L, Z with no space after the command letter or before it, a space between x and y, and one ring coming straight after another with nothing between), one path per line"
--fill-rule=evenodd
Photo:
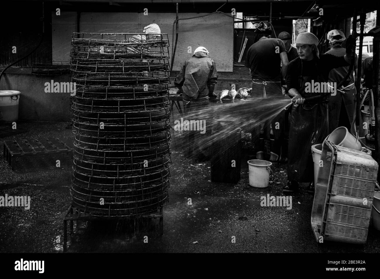
M306 93L305 83L313 77L301 77L299 94L308 98L321 93ZM322 82L321 77L314 82ZM326 102L293 105L290 115L288 145L288 180L311 182L314 179L314 164L311 146L322 143L328 135L328 108Z

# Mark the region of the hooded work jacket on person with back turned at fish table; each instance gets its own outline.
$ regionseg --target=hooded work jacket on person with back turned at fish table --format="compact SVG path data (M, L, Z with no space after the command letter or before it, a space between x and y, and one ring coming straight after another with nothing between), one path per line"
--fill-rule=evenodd
M206 53L197 52L185 61L174 85L182 87L182 99L190 101L208 96L209 85L216 84L217 79L214 61Z

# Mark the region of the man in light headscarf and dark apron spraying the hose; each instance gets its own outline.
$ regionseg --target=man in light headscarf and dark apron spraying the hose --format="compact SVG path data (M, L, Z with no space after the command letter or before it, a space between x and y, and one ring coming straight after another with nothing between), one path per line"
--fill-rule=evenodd
M348 66L356 40L346 40L346 55L337 57L324 54L319 57L318 38L310 32L300 33L296 39L298 58L288 64L287 88L295 104L291 110L288 145L288 184L284 192L298 191L298 182L310 182L309 192L314 191L313 160L310 148L322 143L328 135L326 98L304 104L305 98L327 93L321 88L328 80L331 69ZM329 91L331 92L331 91Z

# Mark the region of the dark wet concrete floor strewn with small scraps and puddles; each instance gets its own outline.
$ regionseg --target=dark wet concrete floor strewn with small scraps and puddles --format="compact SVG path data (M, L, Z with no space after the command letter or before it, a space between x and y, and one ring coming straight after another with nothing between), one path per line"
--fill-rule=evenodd
M16 138L73 138L66 123L19 125L29 132ZM8 139L12 137L0 139L1 146ZM261 196L287 195L282 193L286 165L272 167L268 188L250 188L247 160L253 156L245 152L239 183L215 183L210 181L210 162L184 158L175 140L174 135L163 236L154 230L157 220L149 228L140 224L138 232L128 222L80 222L79 227L74 223L68 252L380 252L380 231L373 227L364 245L318 244L310 225L313 196L306 192L307 185L292 195L291 210L260 206ZM12 171L1 157L0 195L30 196L31 206L0 207L0 252L62 252L70 162L57 168L30 158L17 165Z

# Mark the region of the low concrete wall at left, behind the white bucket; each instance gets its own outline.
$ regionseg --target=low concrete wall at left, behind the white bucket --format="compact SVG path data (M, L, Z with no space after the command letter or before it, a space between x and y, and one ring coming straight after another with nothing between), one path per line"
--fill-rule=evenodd
M30 69L25 69L30 72ZM25 71L24 70L24 71ZM15 73L18 71L18 73ZM45 93L45 82L70 82L70 76L37 76L8 69L0 82L2 90L21 92L19 120L68 121L70 93Z

